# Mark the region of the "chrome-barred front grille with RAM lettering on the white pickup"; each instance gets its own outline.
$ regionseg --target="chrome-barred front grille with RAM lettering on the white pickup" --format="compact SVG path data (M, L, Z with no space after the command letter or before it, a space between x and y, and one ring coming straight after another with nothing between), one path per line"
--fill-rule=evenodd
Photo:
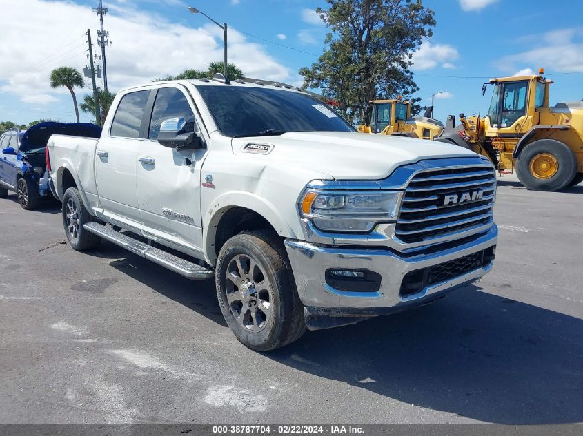
M482 198L443 205L444 195L482 191ZM431 242L479 231L493 222L496 174L492 165L417 172L403 197L395 236L405 243Z

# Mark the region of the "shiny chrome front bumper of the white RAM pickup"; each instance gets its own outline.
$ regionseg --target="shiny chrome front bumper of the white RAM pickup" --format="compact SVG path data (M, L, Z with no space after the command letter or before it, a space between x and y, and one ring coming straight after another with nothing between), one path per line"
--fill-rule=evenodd
M462 284L473 282L492 268L492 262L460 276L425 287L413 295L399 295L403 278L410 271L433 267L496 245L498 229L493 225L471 242L435 253L403 256L388 249L327 247L309 242L285 241L299 298L310 309L332 309L332 313L367 313L370 309L395 309L424 304ZM375 292L339 291L326 283L328 269L368 270L381 276Z

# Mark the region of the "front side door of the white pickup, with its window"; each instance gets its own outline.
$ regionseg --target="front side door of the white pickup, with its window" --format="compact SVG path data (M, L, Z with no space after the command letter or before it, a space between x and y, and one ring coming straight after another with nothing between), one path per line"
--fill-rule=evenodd
M152 93L154 105L147 139L139 144L136 171L143 233L153 240L163 239L179 248L199 251L200 173L206 149L177 151L157 141L161 124L169 118L194 121L193 129L199 131L195 107L182 85L164 85Z

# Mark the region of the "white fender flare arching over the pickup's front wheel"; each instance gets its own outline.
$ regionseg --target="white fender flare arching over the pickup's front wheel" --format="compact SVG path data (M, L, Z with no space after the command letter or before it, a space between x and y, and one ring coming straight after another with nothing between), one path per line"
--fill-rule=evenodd
M264 198L245 191L226 192L215 198L202 215L204 256L210 265L214 264L217 259L215 254L217 226L226 211L233 209L233 207L244 207L261 215L277 231L279 236L294 239L302 237L295 234L284 216Z

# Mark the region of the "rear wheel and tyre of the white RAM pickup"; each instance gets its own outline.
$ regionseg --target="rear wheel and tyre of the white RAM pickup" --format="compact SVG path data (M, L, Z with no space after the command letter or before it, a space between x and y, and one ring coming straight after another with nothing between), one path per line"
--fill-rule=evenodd
M72 249L91 250L99 247L101 238L88 232L83 225L95 221L89 214L77 188L69 188L63 196L63 226Z

